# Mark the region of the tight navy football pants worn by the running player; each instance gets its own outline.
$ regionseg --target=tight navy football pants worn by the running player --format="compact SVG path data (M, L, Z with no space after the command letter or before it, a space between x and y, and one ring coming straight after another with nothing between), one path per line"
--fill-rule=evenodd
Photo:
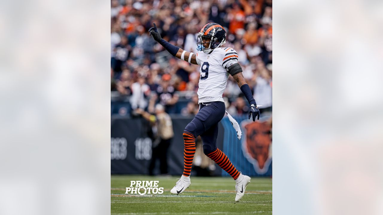
M218 123L225 111L225 103L221 101L200 103L200 111L185 128L194 137L201 136L205 155L217 149Z

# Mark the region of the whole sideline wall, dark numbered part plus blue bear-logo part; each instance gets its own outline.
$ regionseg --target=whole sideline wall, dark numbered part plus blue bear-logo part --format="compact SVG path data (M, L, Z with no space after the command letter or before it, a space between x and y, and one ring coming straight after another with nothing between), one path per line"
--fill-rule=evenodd
M241 140L227 117L219 123L217 145L243 174L272 176L271 116L262 114L259 121L235 117L242 130ZM168 153L169 174L183 172L182 132L191 117L172 117L174 138ZM152 156L151 127L142 118L112 117L111 120L111 174L148 174ZM193 171L191 173L193 176ZM218 165L216 176L229 176Z

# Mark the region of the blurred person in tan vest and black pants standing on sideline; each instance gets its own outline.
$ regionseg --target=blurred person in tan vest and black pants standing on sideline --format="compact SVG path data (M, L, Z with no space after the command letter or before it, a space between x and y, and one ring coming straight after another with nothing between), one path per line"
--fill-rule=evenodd
M157 104L155 106L155 114L150 114L142 109L136 110L137 114L141 114L144 119L149 121L155 135L155 140L152 145L152 159L149 165L149 175L154 175L155 162L160 161L160 174L168 173L167 153L170 147L170 142L174 137L172 119L165 112L164 106Z

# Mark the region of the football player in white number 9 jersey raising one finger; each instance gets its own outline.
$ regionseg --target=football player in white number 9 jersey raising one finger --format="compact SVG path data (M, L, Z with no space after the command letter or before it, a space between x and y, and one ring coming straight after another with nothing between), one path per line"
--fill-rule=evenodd
M161 38L155 26L149 29L149 35L159 42L173 56L191 64L201 65L200 81L198 83L198 103L200 110L194 119L186 126L183 132L184 140L184 170L181 178L170 191L172 194L181 194L190 186L191 164L195 153L195 139L201 136L203 152L224 171L229 173L236 182L236 197L238 202L244 195L250 177L239 172L229 161L223 151L217 148L218 122L223 118L226 109L222 94L226 88L229 75L232 75L241 88L242 93L249 101L249 119L252 116L259 119L259 110L253 98L249 85L242 75L242 68L238 64L236 50L229 47L220 47L226 42L226 31L217 23L208 23L198 33L197 53L187 52L173 46Z

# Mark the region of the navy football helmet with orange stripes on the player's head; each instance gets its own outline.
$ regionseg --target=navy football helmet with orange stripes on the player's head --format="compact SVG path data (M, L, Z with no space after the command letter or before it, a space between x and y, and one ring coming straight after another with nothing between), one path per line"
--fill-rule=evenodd
M197 50L206 54L226 42L226 31L217 23L208 23L198 32Z

